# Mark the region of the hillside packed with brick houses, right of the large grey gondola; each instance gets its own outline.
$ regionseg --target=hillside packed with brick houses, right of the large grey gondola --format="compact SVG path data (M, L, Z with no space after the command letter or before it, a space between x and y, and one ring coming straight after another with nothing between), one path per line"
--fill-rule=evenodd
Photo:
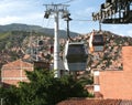
M102 34L105 50L103 52L89 53L88 67L90 70L122 70L122 46L132 45L132 38L121 36L109 31L103 31ZM82 39L88 44L89 35L89 33L80 35L78 39Z

